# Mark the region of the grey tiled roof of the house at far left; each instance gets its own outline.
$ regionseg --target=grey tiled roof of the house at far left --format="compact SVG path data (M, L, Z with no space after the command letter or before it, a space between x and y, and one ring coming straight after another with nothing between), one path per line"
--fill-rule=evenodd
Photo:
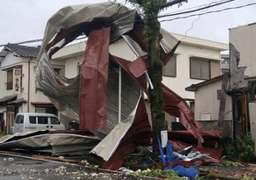
M40 51L40 47L27 47L27 46L9 43L4 47L3 51L11 51L14 54L17 54L19 57L34 57L34 58L36 58Z

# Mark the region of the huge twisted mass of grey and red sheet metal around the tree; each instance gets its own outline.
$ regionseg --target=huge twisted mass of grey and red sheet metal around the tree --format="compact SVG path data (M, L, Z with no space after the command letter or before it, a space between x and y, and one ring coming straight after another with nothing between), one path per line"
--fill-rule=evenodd
M101 138L90 154L106 169L122 166L124 155L131 154L136 146L150 145L151 126L144 93L148 95L147 84L151 81L142 29L143 20L137 12L121 4L67 6L49 19L37 58L37 88L59 112L79 122L80 129ZM50 64L52 56L80 35L86 35L88 40L79 76L58 76ZM137 59L128 61L109 54L109 44L119 39L125 40ZM161 41L163 64L178 44L176 39ZM162 94L165 112L178 117L187 130L179 137L189 136L189 141L193 139L195 143L203 142L203 136L219 138L219 133L200 132L200 123L189 105L163 84ZM177 140L173 144L175 148L185 146ZM215 147L215 143L211 146Z

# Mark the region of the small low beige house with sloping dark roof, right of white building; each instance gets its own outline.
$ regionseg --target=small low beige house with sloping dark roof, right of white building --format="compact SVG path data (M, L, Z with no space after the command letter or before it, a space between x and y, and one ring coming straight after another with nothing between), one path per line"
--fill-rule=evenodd
M195 119L203 125L200 130L219 130L222 131L222 138L230 138L233 135L232 98L226 93L222 95L223 81L225 81L224 75L216 76L210 80L192 84L185 90L194 92ZM221 102L223 98L225 102ZM223 104L222 114L220 114L221 103Z

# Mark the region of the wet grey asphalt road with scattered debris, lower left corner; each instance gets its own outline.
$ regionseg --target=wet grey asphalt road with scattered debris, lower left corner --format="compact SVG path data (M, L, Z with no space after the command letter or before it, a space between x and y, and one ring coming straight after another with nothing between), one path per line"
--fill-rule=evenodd
M78 164L41 161L19 155L0 155L1 180L149 180L141 176L126 176L124 173L92 169Z

